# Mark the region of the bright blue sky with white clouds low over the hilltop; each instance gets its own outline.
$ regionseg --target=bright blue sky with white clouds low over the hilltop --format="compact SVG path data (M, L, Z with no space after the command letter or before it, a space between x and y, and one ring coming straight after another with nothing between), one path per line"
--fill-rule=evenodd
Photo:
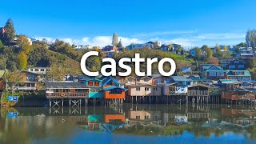
M161 41L182 46L234 45L256 28L254 0L38 0L2 2L18 34L105 46L114 32L123 45Z

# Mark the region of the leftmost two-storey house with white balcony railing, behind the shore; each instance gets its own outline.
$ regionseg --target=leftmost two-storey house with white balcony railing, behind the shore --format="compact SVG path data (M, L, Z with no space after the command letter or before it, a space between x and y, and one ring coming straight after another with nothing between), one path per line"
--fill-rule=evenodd
M15 86L14 86L14 90L16 91L34 91L37 90L37 86L38 86L38 80L39 80L39 74L34 73L34 72L30 72L30 71L26 71L26 70L22 70L20 71L22 74L22 79L20 80L20 82L18 82Z

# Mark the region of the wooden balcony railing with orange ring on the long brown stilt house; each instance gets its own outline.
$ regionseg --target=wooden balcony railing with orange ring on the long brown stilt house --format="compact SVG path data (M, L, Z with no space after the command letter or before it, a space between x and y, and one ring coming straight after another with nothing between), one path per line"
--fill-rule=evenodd
M46 93L46 98L89 98L86 93Z

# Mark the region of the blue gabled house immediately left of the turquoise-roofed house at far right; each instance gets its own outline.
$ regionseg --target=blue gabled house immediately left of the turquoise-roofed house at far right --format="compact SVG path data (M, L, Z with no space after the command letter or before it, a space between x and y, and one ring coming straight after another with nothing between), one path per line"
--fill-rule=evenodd
M223 70L221 66L212 66L212 65L204 65L200 68L201 71L201 78L207 78L207 79L224 79L226 70Z

